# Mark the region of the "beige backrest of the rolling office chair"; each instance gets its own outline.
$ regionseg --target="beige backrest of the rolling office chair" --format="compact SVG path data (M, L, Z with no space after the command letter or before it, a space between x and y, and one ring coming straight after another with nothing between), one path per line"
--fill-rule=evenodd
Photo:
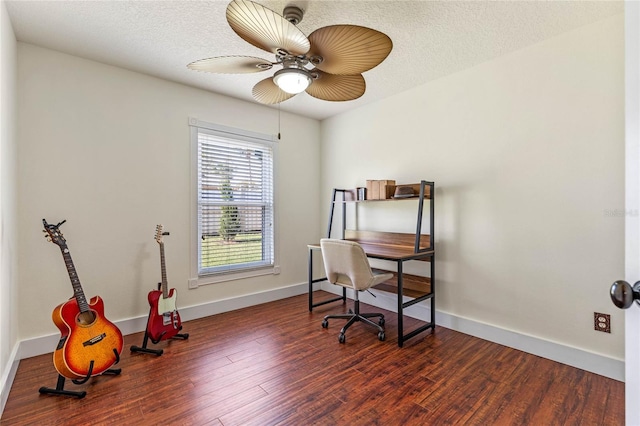
M330 283L366 290L380 282L371 271L369 260L360 244L323 238L320 240L320 248Z

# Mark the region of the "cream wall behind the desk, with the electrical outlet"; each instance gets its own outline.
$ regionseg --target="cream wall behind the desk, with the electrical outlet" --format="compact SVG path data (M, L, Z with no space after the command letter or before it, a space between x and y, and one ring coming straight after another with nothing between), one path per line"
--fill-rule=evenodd
M438 311L622 360L608 290L624 276L623 28L618 15L325 120L322 196L435 181Z

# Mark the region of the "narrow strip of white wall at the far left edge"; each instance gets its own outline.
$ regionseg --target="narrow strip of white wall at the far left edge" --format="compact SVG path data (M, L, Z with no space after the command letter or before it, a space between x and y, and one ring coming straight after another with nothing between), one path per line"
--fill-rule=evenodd
M0 2L0 413L15 374L18 341L16 67L17 48L4 1Z

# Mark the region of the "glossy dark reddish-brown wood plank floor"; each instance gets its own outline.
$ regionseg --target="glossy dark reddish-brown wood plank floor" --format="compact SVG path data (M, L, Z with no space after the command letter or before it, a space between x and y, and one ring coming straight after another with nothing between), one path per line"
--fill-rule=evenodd
M309 313L297 296L185 322L189 340L151 345L160 357L130 353L142 333L126 336L120 376L67 381L84 399L40 395L56 385L51 355L25 359L0 424L624 424L621 382L442 327L400 349L391 312L386 341L355 324L340 344L344 321L320 324L344 310Z

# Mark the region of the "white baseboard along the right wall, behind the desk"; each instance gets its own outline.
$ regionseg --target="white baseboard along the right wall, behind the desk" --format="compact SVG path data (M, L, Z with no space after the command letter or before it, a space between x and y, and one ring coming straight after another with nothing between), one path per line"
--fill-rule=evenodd
M342 294L342 288L322 282L322 290L330 293ZM373 297L367 292L360 294L360 301L368 305L377 306L388 311L397 312L398 299L394 294L375 292ZM349 297L349 293L347 293ZM429 321L431 309L429 306L418 303L408 308L405 315L422 321ZM607 357L601 354L585 351L572 346L541 339L539 337L517 333L490 324L484 324L468 318L439 312L436 310L436 324L469 334L480 339L498 343L513 349L518 349L542 358L550 359L581 370L590 371L601 376L624 382L624 360Z

